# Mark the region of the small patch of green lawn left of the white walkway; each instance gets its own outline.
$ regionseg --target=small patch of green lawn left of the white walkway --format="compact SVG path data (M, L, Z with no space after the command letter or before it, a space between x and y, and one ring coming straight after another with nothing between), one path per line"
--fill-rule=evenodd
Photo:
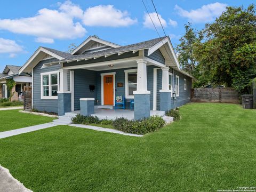
M51 117L20 113L19 110L0 111L0 132L48 123L54 119Z

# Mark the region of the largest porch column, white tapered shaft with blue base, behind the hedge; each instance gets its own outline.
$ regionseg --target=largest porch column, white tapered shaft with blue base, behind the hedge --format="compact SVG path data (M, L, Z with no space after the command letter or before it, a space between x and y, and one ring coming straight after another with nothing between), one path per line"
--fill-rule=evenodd
M147 87L147 61L136 60L137 69L137 91L134 91L134 119L141 120L150 116L150 91Z

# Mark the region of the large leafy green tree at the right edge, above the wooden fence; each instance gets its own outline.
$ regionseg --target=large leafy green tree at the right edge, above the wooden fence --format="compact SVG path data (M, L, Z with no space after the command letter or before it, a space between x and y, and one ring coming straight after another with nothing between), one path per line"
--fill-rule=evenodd
M203 30L205 41L197 43L198 69L212 83L233 86L249 93L256 77L255 6L227 7Z

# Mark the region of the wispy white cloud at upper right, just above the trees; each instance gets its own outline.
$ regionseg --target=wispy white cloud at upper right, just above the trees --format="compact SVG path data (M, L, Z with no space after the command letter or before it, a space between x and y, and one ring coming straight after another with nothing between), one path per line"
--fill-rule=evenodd
M178 5L175 5L175 10L178 11L178 14L181 15L181 17L188 18L189 21L198 23L213 21L226 10L226 6L227 4L216 2L203 5L201 8L196 10L186 11Z

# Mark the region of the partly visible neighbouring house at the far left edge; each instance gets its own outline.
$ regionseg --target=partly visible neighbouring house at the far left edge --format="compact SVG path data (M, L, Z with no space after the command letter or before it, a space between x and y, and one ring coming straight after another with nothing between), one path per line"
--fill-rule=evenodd
M19 95L23 94L24 86L31 85L32 77L30 73L21 73L19 70L21 67L6 65L3 73L0 73L0 98L9 98L10 91L7 90L6 79L12 78L16 85L12 89L13 97L12 101L19 100Z

